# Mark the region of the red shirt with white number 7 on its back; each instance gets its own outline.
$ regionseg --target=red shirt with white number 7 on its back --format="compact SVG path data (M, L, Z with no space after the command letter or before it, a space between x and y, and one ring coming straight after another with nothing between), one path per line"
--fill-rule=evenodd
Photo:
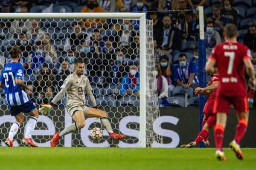
M216 61L220 84L217 96L246 96L244 59L251 58L250 49L241 43L222 42L212 49L209 59Z

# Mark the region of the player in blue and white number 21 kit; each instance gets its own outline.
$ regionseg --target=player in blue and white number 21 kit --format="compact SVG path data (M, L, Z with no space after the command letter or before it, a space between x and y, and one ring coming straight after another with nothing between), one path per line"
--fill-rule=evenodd
M9 111L12 116L15 116L16 122L12 124L5 144L8 147L13 147L12 140L23 123L23 113L29 113L30 119L26 124L26 132L22 143L37 147L32 141L32 132L38 120L38 110L35 107L35 103L29 99L29 96L24 91L24 89L28 91L29 88L23 82L24 68L20 64L22 55L20 48L15 45L9 51L9 55L11 56L11 61L3 68L0 76L0 87L4 89Z

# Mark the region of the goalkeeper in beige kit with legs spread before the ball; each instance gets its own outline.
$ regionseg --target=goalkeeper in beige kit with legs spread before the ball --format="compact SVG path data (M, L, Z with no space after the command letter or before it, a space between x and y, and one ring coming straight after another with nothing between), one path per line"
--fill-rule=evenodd
M111 124L108 121L107 113L97 108L95 98L91 92L92 88L90 86L90 82L88 78L83 75L84 62L81 59L76 59L74 65L75 72L70 74L67 79L65 79L63 85L61 86L61 91L52 99L50 104L42 105L42 107L38 110L41 113L47 113L52 109L52 106L62 99L65 93L67 93L67 112L74 120L74 123L70 124L61 132L54 134L51 140L51 147L54 147L62 136L83 128L85 125L85 117L100 118L102 126L108 131L112 139L125 138L125 135L113 132ZM86 91L87 96L93 105L92 108L84 106L84 91Z

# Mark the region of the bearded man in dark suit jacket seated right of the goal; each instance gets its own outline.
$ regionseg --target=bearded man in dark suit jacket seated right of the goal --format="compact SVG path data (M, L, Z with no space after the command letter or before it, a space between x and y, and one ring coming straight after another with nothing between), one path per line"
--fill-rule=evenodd
M163 27L158 29L157 45L162 52L173 56L180 52L182 33L172 26L172 18L169 15L163 17Z

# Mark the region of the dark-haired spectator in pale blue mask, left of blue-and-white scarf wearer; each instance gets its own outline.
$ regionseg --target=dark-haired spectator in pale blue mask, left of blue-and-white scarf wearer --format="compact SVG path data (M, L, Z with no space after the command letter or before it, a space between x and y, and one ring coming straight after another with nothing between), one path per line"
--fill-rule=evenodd
M166 55L163 55L160 59L159 66L161 69L161 74L163 77L166 78L168 83L168 88L170 91L174 88L174 85L172 84L172 69L171 69L171 61L169 61L169 58Z

